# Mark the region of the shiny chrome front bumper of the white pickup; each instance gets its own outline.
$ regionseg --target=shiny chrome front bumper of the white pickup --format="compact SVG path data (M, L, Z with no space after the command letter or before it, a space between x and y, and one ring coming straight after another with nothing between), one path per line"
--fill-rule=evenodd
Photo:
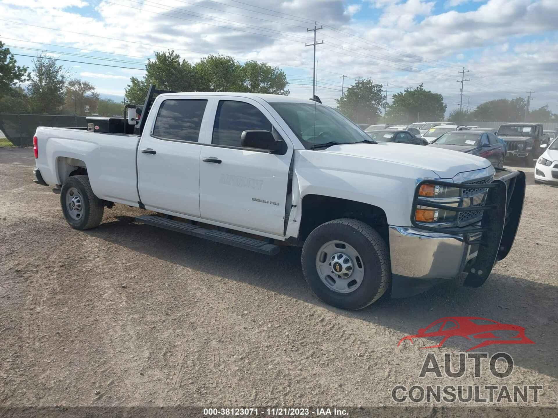
M469 234L472 241L481 236L482 232ZM455 278L477 256L478 247L478 244L465 244L463 235L389 226L391 271L406 278Z

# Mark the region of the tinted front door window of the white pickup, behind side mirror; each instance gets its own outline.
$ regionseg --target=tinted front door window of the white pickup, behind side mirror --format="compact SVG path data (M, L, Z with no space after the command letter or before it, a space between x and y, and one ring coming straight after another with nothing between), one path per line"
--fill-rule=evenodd
M244 130L263 129L271 132L272 125L256 107L243 101L221 100L213 125L212 144L240 147Z

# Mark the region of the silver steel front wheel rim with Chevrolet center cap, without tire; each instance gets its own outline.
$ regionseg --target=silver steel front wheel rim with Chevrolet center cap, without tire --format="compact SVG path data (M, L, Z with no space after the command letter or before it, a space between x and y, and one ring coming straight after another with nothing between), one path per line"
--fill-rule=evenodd
M321 281L336 293L357 290L364 278L362 257L344 241L329 241L316 254L316 270Z

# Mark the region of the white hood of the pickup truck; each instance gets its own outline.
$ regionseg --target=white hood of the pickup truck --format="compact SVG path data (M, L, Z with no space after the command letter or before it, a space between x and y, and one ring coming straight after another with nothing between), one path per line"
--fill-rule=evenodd
M479 170L490 162L477 155L431 146L381 142L378 144L333 145L324 152L391 161L433 171L440 178L453 178L465 171Z

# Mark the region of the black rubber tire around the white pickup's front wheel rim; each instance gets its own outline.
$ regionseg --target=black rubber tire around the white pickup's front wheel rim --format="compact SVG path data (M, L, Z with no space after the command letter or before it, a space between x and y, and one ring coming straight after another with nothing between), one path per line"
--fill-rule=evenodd
M362 258L364 278L351 293L336 293L324 284L316 269L321 246L341 240L354 247ZM376 302L391 282L389 250L386 242L370 225L355 219L325 222L310 233L302 247L302 271L306 282L318 298L336 308L356 310Z

